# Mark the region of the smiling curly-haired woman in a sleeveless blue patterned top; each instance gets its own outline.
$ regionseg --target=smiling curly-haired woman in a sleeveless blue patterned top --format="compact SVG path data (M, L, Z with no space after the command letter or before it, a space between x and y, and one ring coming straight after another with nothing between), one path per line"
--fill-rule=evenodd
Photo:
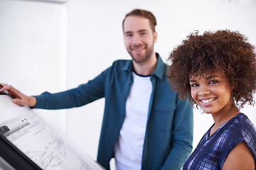
M255 46L230 30L191 33L171 52L172 88L214 120L183 169L255 169L256 128L240 112L255 103L255 57Z

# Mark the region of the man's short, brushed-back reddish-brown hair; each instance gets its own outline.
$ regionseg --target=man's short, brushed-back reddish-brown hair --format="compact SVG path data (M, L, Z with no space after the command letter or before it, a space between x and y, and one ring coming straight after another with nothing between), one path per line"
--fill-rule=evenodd
M122 22L122 28L124 30L124 21L128 16L141 16L143 18L149 19L150 27L155 32L155 27L156 27L156 17L151 13L150 11L146 11L144 9L134 9L131 12L127 13L126 16L124 17L124 20Z

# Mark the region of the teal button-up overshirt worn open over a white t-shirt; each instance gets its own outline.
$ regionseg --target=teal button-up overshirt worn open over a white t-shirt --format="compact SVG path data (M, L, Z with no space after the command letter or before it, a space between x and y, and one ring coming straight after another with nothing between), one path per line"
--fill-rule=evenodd
M166 64L159 54L151 74L153 91L149 103L142 169L179 170L192 150L193 109L188 101L171 91L166 77ZM126 100L131 89L132 60L117 60L100 75L75 89L57 94L45 92L36 96L35 108L60 109L84 106L105 98L105 111L97 162L110 169L114 145L125 118Z

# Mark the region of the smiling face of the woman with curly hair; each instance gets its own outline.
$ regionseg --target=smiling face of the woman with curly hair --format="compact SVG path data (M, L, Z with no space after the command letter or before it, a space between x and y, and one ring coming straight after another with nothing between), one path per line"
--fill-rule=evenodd
M191 74L191 96L205 113L222 113L233 107L232 89L222 72Z

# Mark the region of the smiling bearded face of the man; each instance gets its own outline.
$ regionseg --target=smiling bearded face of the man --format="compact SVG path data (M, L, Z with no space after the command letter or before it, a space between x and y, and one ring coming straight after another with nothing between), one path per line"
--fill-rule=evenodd
M137 63L146 62L154 55L154 43L157 34L149 25L149 19L140 16L128 16L124 21L124 44Z

